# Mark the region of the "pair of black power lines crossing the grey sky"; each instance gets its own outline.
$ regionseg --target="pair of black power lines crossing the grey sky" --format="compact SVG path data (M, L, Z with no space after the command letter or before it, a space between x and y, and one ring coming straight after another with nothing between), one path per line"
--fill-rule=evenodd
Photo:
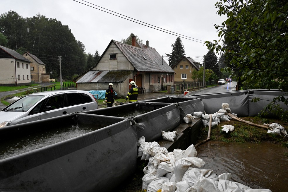
M76 1L76 0L73 0L73 1L78 2L78 3L80 3L80 4L83 4L83 5L86 5L86 6L89 6L89 7L92 7L92 8L95 8L95 9L98 9L98 10L103 11L103 12L105 12L105 13L109 13L109 12L104 11L104 10L101 10L101 9L99 9L99 8L96 8L96 7L93 7L93 6L90 6L90 5L81 3L81 2L79 2L79 1ZM84 0L81 0L81 1L84 1ZM87 2L87 1L84 1L84 2L89 3L89 2ZM92 3L89 3L89 4L92 4ZM95 5L95 4L92 4L92 5L97 6L97 5ZM100 6L97 6L97 7L100 7ZM101 8L102 8L102 7L101 7ZM105 8L104 8L104 9L105 9ZM109 9L105 9L105 10L110 11ZM114 11L111 11L111 12L116 13L116 12L114 12ZM122 16L127 17L127 18L121 17L121 16L119 16L119 15L115 15L115 14L113 14L113 13L109 13L109 14L114 15L114 16L117 16L117 17L120 17L120 18L123 18L123 19L126 19L126 20L129 20L129 21L132 21L132 22L134 22L134 23L138 23L138 24L140 24L140 25L144 25L144 26L146 26L146 27L150 27L150 28L152 28L152 29L156 29L156 30L159 30L159 31L168 33L168 34L170 34L170 35L178 34L178 33L175 33L175 32L170 33L171 31L166 30L166 29L163 29L163 30L166 30L166 31L160 30L160 29L162 29L162 28L156 27L156 26L154 26L154 25L151 25L151 26L153 26L153 27L148 26L148 25L150 25L150 24L148 24L148 23L145 23L145 24L147 24L147 25L145 25L145 24L143 24L144 22L139 21L139 20L136 20L136 19L133 19L133 18L131 18L131 19L136 20L136 21L139 21L139 22L141 22L141 23L136 22L136 21L133 21L133 20L131 20L131 19L127 19L127 18L130 18L130 17L124 16L124 15L122 15L122 14L120 14L120 13L117 13L117 14L122 15ZM154 27L156 27L156 28L154 28ZM159 28L159 29L157 29L157 28ZM169 32L167 32L167 31L169 31ZM175 34L173 34L173 33L175 33ZM193 40L193 39L195 39L195 38L189 37L189 38L192 38L192 39L189 39L189 38L186 38L187 36L185 36L185 35L180 35L180 34L178 34L178 35L175 35L175 36L177 36L177 37L182 37L182 38L187 39L187 40L191 40L191 41L195 41L195 42L204 44L204 43L203 43L203 42L204 42L203 40L198 40L198 39L196 39L196 40L198 40L198 41L196 41L196 40ZM203 41L203 42L199 42L199 41Z

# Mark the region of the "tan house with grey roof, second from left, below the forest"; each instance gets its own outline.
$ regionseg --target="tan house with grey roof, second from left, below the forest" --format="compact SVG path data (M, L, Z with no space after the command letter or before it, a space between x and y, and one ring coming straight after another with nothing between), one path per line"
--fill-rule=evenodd
M46 65L37 56L25 52L23 56L30 60L31 81L35 83L49 83L50 74L46 73Z

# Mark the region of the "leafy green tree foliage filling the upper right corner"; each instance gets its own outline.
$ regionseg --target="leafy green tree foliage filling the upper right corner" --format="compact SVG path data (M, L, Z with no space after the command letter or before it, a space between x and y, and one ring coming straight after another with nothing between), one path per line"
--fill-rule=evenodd
M278 89L288 91L288 2L286 0L219 0L215 4L218 15L228 18L221 26L215 25L221 41L206 42L208 48L223 51L231 58L230 67L236 68L235 77L243 85L260 87L262 81L275 81ZM240 85L239 85L240 86ZM274 84L265 84L271 89ZM287 93L286 93L287 94ZM287 97L286 97L287 98ZM255 101L257 98L255 99ZM277 97L265 109L286 119L287 111L281 111L275 102L284 102ZM282 113L278 113L281 111Z

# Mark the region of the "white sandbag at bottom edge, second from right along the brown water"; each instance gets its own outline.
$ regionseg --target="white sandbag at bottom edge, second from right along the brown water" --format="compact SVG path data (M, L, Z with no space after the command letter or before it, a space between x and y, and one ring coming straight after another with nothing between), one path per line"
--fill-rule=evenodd
M219 179L217 188L220 192L242 192L242 189L246 192L246 190L251 189L250 187L243 185L241 183L237 183L234 181L228 181L224 179Z

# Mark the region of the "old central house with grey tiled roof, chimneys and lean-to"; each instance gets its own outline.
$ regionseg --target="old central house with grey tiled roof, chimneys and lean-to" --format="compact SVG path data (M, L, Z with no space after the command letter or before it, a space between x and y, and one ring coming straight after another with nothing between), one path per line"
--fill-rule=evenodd
M149 41L142 44L132 37L132 45L111 40L97 64L74 80L78 90L106 90L113 83L121 97L126 96L132 80L153 92L154 86L173 85L174 73Z

